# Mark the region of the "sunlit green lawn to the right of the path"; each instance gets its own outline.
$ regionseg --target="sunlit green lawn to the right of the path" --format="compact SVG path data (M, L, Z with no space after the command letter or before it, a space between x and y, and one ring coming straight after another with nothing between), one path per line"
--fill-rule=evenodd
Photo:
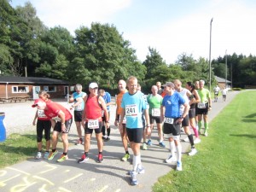
M183 172L160 177L154 191L256 191L256 91L241 92L210 123Z

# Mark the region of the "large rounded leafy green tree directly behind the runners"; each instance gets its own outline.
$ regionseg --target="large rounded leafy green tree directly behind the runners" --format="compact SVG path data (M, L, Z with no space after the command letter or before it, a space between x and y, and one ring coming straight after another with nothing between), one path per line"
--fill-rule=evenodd
M84 85L96 81L112 89L119 79L130 74L143 77L143 65L137 61L135 50L115 26L92 23L90 28L80 27L75 34L75 57L68 67L72 81L83 79L80 83ZM77 76L79 79L73 79Z

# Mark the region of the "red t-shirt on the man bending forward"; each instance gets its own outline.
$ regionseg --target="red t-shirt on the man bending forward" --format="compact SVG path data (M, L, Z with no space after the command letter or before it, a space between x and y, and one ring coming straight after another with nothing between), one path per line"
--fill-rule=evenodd
M54 118L59 115L60 111L65 113L65 120L72 119L72 114L67 110L67 108L64 108L61 104L56 102L47 102L46 103L47 110L44 110L44 114L51 118Z

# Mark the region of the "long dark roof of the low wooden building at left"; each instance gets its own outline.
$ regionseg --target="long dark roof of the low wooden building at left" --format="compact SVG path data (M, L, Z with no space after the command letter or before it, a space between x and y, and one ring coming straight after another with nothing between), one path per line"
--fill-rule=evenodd
M0 83L17 83L17 84L68 84L67 81L50 78L38 77L15 77L15 76L0 76Z

